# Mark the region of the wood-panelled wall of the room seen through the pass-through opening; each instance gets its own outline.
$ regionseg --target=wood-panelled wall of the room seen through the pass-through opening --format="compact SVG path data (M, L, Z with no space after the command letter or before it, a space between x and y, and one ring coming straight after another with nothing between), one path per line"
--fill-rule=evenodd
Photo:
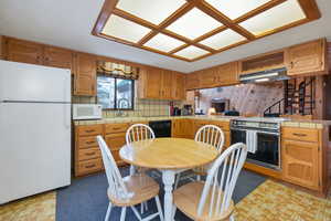
M229 107L243 115L263 115L267 107L282 97L282 82L200 90L200 108L207 113L212 98L225 98L229 99Z

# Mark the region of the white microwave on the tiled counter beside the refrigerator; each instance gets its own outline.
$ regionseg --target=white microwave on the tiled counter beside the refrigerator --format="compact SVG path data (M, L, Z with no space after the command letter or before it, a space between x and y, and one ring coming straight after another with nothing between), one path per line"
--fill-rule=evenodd
M98 104L74 104L73 119L100 119L103 106Z

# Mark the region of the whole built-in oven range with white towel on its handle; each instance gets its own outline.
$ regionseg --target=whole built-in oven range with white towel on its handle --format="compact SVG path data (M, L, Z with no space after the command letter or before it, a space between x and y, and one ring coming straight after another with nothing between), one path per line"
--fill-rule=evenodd
M280 170L280 124L286 118L247 117L231 123L232 144L247 145L247 161Z

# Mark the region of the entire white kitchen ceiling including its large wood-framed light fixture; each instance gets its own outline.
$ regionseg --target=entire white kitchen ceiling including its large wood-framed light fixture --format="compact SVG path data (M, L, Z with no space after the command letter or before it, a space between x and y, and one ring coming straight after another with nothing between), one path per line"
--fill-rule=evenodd
M302 2L310 0L1 0L0 34L190 73L318 38L330 41L331 1L316 0L317 20Z

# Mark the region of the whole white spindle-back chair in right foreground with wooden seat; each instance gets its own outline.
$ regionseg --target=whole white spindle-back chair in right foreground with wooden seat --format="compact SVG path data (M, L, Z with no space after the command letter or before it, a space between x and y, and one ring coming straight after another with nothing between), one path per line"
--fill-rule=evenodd
M234 221L232 196L246 156L247 147L242 143L227 148L214 161L205 182L190 182L174 190L175 209L196 221Z

